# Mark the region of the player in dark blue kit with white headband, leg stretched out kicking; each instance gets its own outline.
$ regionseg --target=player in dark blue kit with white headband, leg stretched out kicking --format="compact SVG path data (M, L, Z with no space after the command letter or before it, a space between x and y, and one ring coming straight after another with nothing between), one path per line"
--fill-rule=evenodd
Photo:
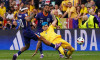
M20 9L20 13L18 14L18 19L20 22L20 27L23 29L23 36L24 36L24 43L25 46L22 47L20 49L20 51L18 51L18 53L13 55L13 59L12 60L16 60L17 57L23 53L24 51L26 51L29 46L30 46L30 40L41 40L43 41L46 45L51 46L53 48L55 48L56 50L59 48L60 44L52 44L50 42L48 42L46 39L44 39L42 36L38 36L35 34L34 31L31 30L31 26L30 26L30 20L34 18L34 14L32 14L30 17L26 14L26 7L23 7Z

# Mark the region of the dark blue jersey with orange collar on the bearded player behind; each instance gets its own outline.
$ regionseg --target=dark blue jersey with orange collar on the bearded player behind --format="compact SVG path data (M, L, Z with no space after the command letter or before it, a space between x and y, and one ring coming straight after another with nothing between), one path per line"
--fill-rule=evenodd
M47 16L45 16L43 14L43 12L38 13L37 16L35 17L36 20L38 20L37 23L37 31L38 32L42 32L42 23L43 22L48 22L48 23L52 23L52 16L50 14L48 14Z

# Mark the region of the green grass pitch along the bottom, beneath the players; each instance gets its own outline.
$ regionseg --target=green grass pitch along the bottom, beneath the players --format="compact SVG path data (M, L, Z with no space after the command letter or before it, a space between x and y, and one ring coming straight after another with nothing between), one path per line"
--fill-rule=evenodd
M12 60L13 54L18 51L0 50L0 60ZM40 59L40 53L31 57L34 51L25 51L17 60L100 60L100 51L75 51L72 59L60 58L57 51L44 51L44 58Z

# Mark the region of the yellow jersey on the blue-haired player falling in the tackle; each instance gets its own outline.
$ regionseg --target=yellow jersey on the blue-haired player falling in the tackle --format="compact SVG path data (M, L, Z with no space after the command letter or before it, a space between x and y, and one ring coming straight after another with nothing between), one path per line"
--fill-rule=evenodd
M46 40L49 42L53 42L56 38L60 37L61 35L58 35L54 32L54 26L50 25L46 31L43 31L40 33L41 36L43 36Z

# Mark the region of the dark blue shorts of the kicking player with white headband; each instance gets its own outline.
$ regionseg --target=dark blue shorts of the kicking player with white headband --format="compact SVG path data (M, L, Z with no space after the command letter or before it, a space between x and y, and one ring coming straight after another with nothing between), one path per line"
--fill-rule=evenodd
M25 44L30 44L31 39L37 41L39 38L39 36L35 34L33 31L23 31L23 36Z

